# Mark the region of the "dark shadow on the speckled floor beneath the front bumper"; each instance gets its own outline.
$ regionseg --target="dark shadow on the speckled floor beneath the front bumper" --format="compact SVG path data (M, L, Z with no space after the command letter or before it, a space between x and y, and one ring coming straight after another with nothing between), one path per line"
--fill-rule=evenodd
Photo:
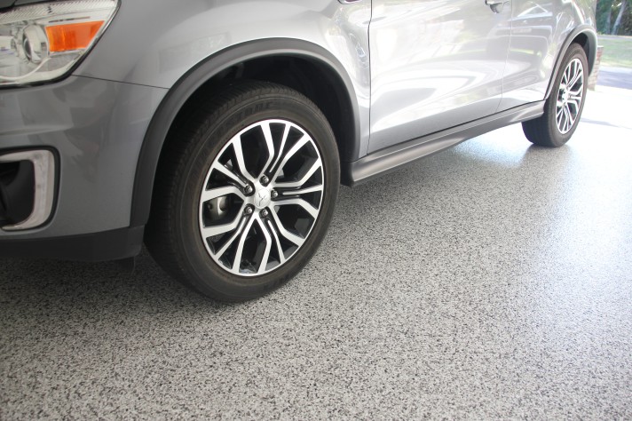
M230 307L202 297L165 274L146 250L133 272L117 262L2 258L0 302L4 322L28 313L155 314L186 306ZM53 322L54 317L45 319Z

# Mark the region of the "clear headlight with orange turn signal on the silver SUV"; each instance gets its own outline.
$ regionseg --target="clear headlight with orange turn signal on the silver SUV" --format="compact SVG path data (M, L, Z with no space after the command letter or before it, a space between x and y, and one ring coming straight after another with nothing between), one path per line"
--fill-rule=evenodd
M0 87L67 74L107 28L118 0L77 0L0 13Z

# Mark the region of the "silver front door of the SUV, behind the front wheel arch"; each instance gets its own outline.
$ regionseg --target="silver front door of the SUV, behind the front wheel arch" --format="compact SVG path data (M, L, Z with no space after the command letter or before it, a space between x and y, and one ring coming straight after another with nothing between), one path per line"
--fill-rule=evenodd
M494 114L511 3L373 0L368 152Z

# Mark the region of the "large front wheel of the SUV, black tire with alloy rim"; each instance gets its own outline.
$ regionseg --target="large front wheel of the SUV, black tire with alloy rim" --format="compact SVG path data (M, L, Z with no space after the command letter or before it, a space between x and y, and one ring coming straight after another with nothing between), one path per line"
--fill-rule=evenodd
M210 298L260 297L297 274L319 247L339 166L333 131L309 99L278 84L236 84L202 99L171 131L147 249L169 274ZM225 190L231 193L216 196Z

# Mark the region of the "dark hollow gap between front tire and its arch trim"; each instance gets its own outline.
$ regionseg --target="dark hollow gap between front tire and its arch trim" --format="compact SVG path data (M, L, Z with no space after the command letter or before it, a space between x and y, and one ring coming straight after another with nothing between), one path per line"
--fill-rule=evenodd
M218 91L230 89L231 83L240 79L272 82L301 92L311 99L327 117L334 134L341 161L352 161L355 154L356 133L351 99L343 80L327 65L309 58L295 56L263 57L243 61L225 68L203 83L178 112L171 127L190 115L201 97L209 97ZM166 142L169 141L169 136Z

